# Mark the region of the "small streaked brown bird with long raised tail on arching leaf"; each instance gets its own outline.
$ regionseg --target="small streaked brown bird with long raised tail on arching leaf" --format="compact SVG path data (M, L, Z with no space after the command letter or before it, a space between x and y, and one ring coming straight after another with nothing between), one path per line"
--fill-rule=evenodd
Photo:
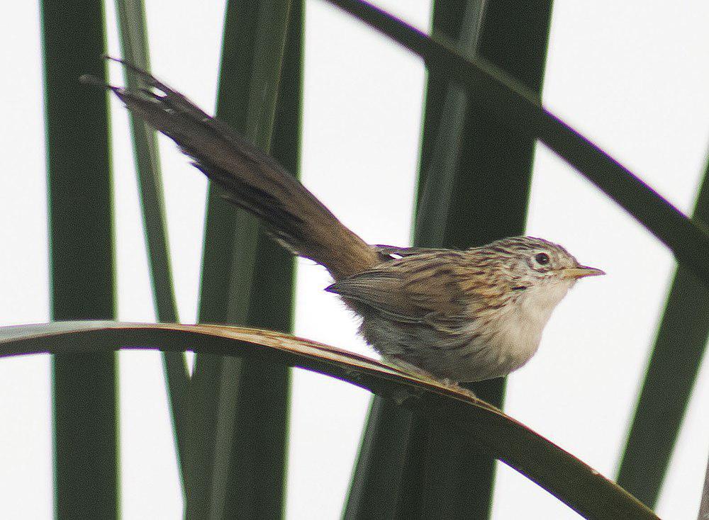
M459 383L508 375L534 356L552 311L580 278L605 274L564 247L508 237L465 250L367 244L275 159L184 95L125 60L143 79L116 94L174 140L223 198L262 221L293 254L333 277L325 288L360 318L359 334L387 363Z

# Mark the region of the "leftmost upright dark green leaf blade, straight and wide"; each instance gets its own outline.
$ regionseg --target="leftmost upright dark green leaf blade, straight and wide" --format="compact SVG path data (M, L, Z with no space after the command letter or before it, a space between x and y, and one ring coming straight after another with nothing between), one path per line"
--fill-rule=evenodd
M111 176L104 3L42 3L52 317L113 317ZM116 370L111 349L67 351L52 365L57 518L118 515Z

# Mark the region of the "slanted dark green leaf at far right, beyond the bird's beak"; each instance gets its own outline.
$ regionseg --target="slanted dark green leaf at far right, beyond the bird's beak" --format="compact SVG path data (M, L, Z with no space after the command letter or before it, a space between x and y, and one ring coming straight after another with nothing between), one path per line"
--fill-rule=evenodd
M693 219L709 222L709 162ZM679 266L618 470L618 483L654 507L709 337L709 289Z

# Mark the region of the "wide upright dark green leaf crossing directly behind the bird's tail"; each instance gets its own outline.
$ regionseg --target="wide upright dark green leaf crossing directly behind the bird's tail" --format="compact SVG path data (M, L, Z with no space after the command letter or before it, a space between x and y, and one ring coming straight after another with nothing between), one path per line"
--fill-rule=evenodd
M217 116L269 151L281 85L289 0L228 3ZM274 146L296 166L301 9L289 40L288 92ZM286 123L289 121L289 123ZM199 320L289 329L293 261L257 220L211 186ZM200 355L190 392L187 517L274 518L282 509L288 373L257 361Z

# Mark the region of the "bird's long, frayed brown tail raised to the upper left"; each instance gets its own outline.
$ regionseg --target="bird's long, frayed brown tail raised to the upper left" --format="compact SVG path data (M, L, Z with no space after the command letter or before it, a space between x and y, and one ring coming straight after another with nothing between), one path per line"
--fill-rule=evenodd
M322 264L335 280L378 262L372 247L272 157L151 74L116 61L140 74L150 89L121 89L91 77L82 81L110 89L132 113L171 137L197 168L225 188L227 200L259 217L285 247Z

